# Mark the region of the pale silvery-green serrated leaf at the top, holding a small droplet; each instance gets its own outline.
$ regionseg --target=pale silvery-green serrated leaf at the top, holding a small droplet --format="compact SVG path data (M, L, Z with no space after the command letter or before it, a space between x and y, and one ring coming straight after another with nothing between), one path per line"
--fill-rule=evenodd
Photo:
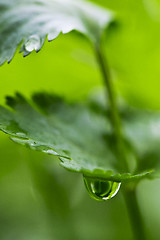
M98 41L113 14L82 0L0 0L0 64L10 62L21 43L23 55L38 52L48 41L77 30Z

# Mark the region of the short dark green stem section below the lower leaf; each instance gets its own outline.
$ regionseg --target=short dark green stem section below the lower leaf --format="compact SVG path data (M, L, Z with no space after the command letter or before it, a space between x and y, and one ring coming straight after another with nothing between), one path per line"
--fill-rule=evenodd
M128 215L130 218L134 239L136 240L146 240L145 229L143 218L139 209L139 205L137 202L136 191L134 189L127 189L123 192Z

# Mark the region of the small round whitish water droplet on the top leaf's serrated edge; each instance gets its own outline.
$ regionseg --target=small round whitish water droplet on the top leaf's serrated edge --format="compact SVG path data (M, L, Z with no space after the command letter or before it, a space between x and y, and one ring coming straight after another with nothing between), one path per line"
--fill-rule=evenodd
M38 51L40 47L41 47L41 40L38 35L30 36L25 43L25 49L28 52L32 52L33 50Z

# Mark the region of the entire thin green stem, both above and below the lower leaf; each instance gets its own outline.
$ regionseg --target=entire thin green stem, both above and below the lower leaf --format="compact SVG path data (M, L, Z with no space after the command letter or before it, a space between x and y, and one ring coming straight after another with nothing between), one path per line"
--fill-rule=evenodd
M111 125L113 128L113 133L115 136L117 152L118 152L118 160L119 166L122 166L123 171L128 172L128 156L126 152L126 146L123 137L123 131L121 127L121 121L119 117L119 112L116 103L116 96L114 92L113 82L111 80L109 67L104 56L104 51L102 50L101 45L98 43L95 45L95 52L97 61L103 76L104 84L107 89L107 96L109 99L110 105L110 113L111 113ZM145 240L144 234L144 225L143 219L139 210L136 192L135 192L135 185L132 188L126 188L124 191L124 197L133 229L133 234L136 240Z

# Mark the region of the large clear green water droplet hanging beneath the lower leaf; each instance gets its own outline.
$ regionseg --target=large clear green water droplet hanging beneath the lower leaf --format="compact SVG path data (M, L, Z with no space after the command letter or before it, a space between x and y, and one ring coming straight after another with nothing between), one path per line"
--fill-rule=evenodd
M83 177L89 195L97 201L106 201L113 198L119 191L121 183L104 181L90 177Z

